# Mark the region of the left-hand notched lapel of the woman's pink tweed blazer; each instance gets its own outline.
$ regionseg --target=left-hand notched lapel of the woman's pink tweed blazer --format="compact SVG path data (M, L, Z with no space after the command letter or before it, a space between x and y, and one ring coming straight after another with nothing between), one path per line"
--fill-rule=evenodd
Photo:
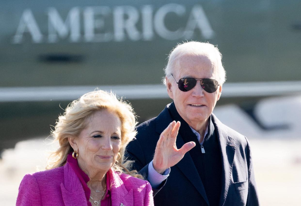
M82 184L69 164L64 166L64 182L61 183L61 192L66 206L87 205Z

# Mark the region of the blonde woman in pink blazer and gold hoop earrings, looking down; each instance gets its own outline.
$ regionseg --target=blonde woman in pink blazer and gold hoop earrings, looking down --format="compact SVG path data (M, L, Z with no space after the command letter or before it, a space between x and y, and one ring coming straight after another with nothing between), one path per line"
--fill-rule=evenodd
M135 137L129 104L94 91L73 101L52 132L60 148L46 171L24 176L17 205L154 205L150 184L125 161Z

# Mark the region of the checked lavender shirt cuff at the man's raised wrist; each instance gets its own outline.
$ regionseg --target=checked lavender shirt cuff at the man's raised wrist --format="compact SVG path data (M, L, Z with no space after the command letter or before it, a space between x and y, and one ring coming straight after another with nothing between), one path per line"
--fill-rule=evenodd
M157 189L157 187L169 176L170 167L161 175L154 169L153 161L148 164L147 180L151 184L151 187Z

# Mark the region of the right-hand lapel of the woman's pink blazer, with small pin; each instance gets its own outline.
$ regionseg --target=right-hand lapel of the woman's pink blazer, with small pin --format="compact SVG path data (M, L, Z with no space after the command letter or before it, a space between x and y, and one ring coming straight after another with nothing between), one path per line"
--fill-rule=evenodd
M109 170L111 182L111 200L112 206L133 206L134 196L133 189L127 191L122 179L115 173L112 168Z

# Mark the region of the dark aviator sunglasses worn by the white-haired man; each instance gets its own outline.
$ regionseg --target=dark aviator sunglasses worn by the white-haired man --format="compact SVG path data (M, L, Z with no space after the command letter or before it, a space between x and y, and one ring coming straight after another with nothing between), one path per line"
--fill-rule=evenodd
M175 79L175 77L171 74L171 76ZM219 86L219 83L214 79L200 79L200 78L190 78L190 77L184 77L181 78L178 82L175 80L175 82L178 84L178 87L183 92L188 92L194 86L197 84L197 80L200 80L202 88L208 92L213 93L217 90L217 87Z

